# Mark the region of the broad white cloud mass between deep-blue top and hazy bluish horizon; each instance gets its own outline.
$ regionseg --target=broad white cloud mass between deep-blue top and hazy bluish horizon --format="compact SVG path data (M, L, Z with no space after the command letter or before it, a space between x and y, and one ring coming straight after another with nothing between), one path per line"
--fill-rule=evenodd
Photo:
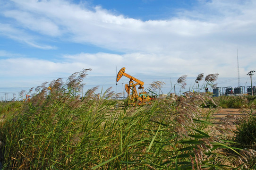
M58 76L92 68L91 75L109 76L118 66L127 67L131 74L197 76L204 72L236 77L238 46L240 75L246 75L247 69L255 67L256 2L200 2L193 10L181 11L168 20L142 21L67 0L12 0L13 8L0 8L5 17L13 19L11 24L0 24L2 35L41 49L57 48L41 45L45 36L124 54L78 51L64 55L61 62L2 59L4 68L0 70L10 76Z

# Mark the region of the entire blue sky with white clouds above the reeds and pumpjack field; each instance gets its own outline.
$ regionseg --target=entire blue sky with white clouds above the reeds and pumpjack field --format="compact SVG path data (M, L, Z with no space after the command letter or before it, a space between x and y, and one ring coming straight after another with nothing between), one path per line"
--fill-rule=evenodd
M255 8L255 0L0 0L0 97L83 68L92 69L85 91L121 92L123 67L145 88L165 82L163 93L183 75L188 89L201 73L218 73L222 87L238 86L239 73L249 86Z

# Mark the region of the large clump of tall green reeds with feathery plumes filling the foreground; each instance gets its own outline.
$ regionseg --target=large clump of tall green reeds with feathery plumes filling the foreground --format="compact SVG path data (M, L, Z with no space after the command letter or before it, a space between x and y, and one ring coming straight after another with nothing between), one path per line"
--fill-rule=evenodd
M122 109L111 89L76 95L86 71L37 87L0 123L3 169L224 170L244 163L233 161L241 149L214 135L210 113L201 110L205 97L187 93Z

